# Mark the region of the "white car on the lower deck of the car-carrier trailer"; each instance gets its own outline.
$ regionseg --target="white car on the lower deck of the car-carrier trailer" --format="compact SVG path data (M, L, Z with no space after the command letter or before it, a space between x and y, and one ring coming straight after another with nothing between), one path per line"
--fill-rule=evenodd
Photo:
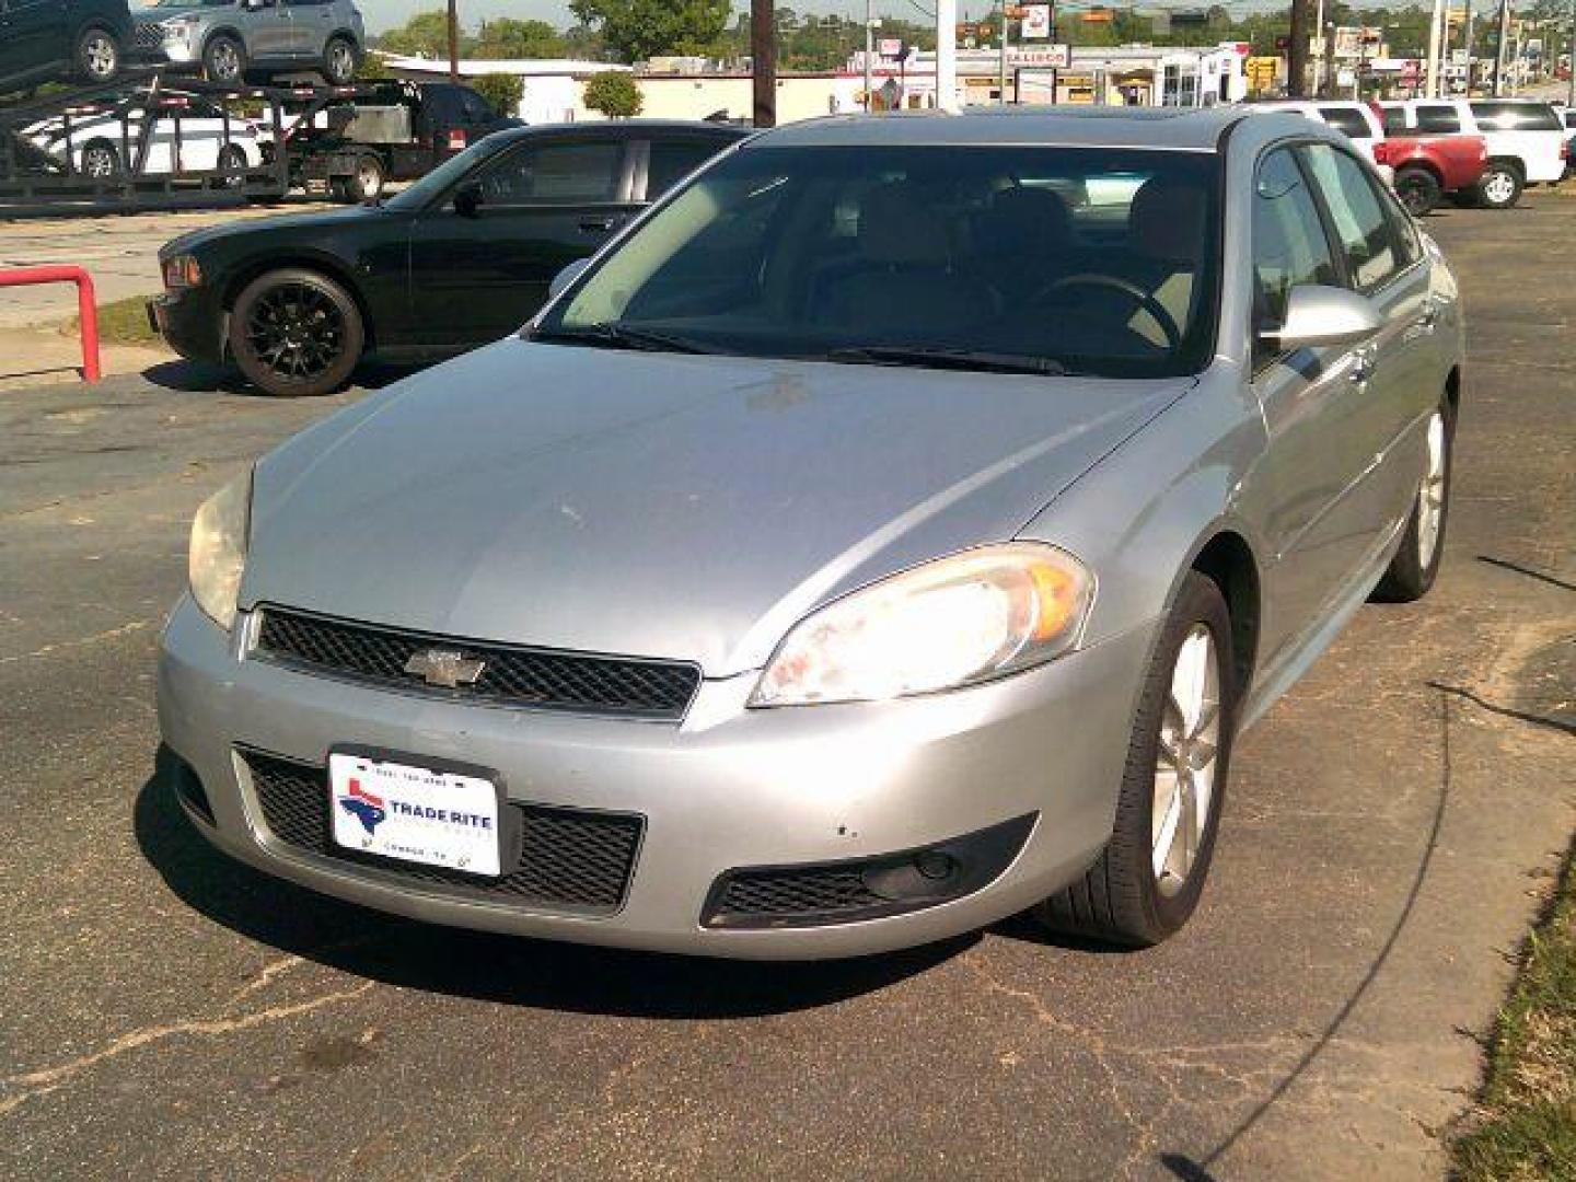
M147 118L140 106L115 104L43 120L22 134L52 159L66 161L69 154L72 172L113 180L136 162ZM249 169L262 167L271 151L251 120L227 115L200 96L164 96L140 175L222 170L240 181Z

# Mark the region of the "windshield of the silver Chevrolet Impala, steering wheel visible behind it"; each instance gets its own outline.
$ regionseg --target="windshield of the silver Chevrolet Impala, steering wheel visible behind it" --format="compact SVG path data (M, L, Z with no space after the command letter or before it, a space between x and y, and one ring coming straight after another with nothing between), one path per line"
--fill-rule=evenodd
M1191 374L1215 320L1217 165L1163 150L745 148L531 333L851 364Z

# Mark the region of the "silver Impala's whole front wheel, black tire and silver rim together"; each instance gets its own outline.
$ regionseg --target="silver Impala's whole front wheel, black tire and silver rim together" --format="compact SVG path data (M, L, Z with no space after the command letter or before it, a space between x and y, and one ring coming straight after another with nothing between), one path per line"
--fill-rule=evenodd
M1234 668L1226 600L1190 571L1144 679L1111 840L1080 881L1034 909L1046 927L1146 947L1193 914L1220 829Z

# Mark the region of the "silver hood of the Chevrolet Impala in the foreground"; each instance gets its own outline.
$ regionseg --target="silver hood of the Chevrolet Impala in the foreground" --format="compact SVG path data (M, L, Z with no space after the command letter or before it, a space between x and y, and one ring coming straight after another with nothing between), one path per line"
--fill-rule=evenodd
M241 604L728 676L1012 537L1190 385L509 339L266 457Z

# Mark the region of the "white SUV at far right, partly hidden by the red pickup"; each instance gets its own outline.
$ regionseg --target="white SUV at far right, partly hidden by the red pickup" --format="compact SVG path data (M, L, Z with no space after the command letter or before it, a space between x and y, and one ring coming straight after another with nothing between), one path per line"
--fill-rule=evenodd
M1379 104L1390 136L1409 132L1481 136L1488 165L1477 188L1459 199L1508 210L1527 184L1565 175L1565 129L1548 102L1532 99L1404 99Z

